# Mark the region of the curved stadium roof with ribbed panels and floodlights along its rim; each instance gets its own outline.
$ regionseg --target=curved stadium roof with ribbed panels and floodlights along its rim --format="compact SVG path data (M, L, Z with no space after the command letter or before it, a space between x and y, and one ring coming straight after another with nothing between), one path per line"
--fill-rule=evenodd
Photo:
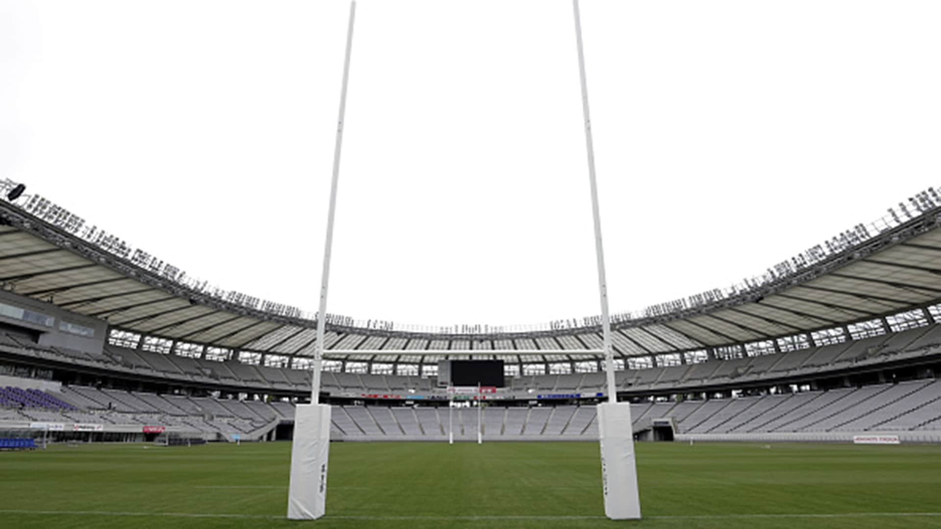
M194 280L38 195L10 202L11 185L0 182L5 290L104 319L113 329L263 354L313 354L315 314ZM936 303L939 222L941 200L929 189L760 277L615 314L615 352L630 357L774 345L777 338ZM361 360L409 361L447 349L495 350L519 361L578 360L593 358L589 351L601 347L598 316L519 328L430 328L327 314L327 331L327 358L332 353ZM559 349L570 353L550 353Z

